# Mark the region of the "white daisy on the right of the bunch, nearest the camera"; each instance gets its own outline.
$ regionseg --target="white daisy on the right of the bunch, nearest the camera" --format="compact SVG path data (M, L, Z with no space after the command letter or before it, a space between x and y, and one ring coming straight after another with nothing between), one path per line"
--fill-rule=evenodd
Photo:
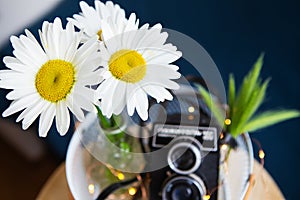
M143 120L148 118L148 95L158 102L172 100L167 89L178 89L172 79L180 78L178 67L170 63L181 57L172 44L165 44L168 34L157 24L124 32L102 43L104 81L97 88L104 115L120 114L127 106L130 116L135 109ZM106 34L108 29L103 30Z

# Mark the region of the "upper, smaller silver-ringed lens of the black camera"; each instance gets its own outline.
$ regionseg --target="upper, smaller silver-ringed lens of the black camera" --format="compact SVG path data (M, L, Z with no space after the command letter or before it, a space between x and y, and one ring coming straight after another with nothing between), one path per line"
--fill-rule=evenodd
M201 164L201 144L192 137L181 136L175 139L168 152L168 164L178 174L191 174Z

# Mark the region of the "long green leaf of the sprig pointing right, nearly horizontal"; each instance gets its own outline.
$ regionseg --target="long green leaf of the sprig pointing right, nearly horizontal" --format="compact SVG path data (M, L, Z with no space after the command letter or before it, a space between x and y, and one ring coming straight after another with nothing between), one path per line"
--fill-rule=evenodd
M242 132L254 132L276 123L300 117L300 112L297 110L273 110L261 113L251 119L244 127Z

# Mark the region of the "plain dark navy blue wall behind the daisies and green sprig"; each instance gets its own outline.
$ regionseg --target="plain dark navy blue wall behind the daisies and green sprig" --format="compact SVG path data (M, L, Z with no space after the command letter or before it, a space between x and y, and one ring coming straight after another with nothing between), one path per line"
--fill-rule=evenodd
M93 1L88 2L93 5ZM272 81L261 110L300 109L300 4L297 0L115 2L127 13L136 12L141 23L153 25L159 22L165 28L182 32L198 41L217 64L225 83L230 72L240 83L260 52L264 51L262 76L270 76ZM65 19L78 12L77 0L65 0L55 11L28 28L36 34L43 20L52 21L55 16ZM11 55L11 50L9 44L2 48L1 60L3 55ZM182 71L184 74L190 72L187 67ZM0 91L1 112L8 105L4 93ZM287 199L300 196L297 187L300 179L299 122L299 119L291 120L251 134L261 142L266 152L265 167ZM58 157L63 158L70 136L71 131L63 139L56 133L50 133L45 140Z

